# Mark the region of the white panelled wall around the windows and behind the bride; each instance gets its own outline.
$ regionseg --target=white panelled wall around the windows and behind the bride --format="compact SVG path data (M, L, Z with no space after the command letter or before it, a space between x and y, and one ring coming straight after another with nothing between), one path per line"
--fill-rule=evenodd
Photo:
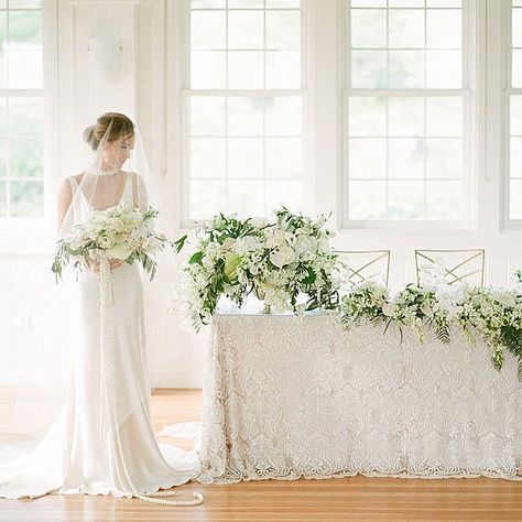
M180 99L175 76L183 64L173 63L172 55L166 58L167 46L176 45L182 36L174 9L174 2L182 0L48 0L45 37L51 51L46 68L47 85L53 86L47 117L53 131L47 168L51 206L59 180L74 172L75 162L69 154L74 149L72 143L77 144L83 129L91 124L99 113L122 111L138 121L149 148L151 165L154 172L161 174L161 189L170 195L164 214L165 231L173 237L180 233L175 229L175 224L180 222L176 166L176 105ZM309 135L314 149L318 151L312 159L311 173L320 175L311 176L314 197L309 208L313 211L329 211L333 209L331 200L339 193L339 151L335 144L339 106L335 101L337 83L331 73L337 56L333 30L337 26L337 8L333 0L304 2L311 17L319 22L315 24L309 42L317 79L309 81L307 87L312 113ZM482 3L483 9L485 6ZM483 11L482 17L482 23L490 25L489 34L499 31L500 19L494 18L494 12L488 18ZM126 76L113 85L95 81L87 66L88 40L106 25L120 31L123 40ZM479 47L477 52L483 50ZM494 77L500 72L482 67L478 74ZM479 93L479 98L485 96L486 93ZM483 132L494 134L501 131L498 117L502 104L500 87L493 86L488 96L489 118L482 122ZM480 98L477 102L485 104L485 100ZM485 145L483 137L479 135L477 140L478 146ZM481 156L483 165L479 165L472 195L477 202L476 210L467 228L444 231L344 230L337 236L335 246L350 250L390 248L393 287L413 281L415 248L485 248L487 283L508 283L513 270L522 267L522 248L521 232L502 228L500 194L503 171L500 151L500 145L492 145ZM334 220L338 222L339 213L334 210ZM22 227L14 232L0 229L0 382L12 380L17 371L28 363L24 354L35 352L34 349L28 351L29 346L39 347L39 363L45 363L45 352L54 346L58 325L53 320L54 282L48 275L53 251L51 224L50 215L46 228ZM181 318L164 313L173 292L172 273L172 270L165 269L160 273L149 297L151 308L157 311L150 340L159 348L162 368L159 384L199 387L207 334L196 336L180 328Z

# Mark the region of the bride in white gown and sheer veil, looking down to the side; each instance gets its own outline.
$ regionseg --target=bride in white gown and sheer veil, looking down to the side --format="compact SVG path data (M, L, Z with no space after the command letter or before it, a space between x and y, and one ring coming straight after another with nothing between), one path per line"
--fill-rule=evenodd
M105 113L84 139L94 159L59 188L61 237L85 222L93 210L118 204L143 210L151 198L146 168L123 170L131 154L142 153L128 117ZM198 467L191 454L174 448L162 453L154 438L140 269L137 263L111 261L113 320L107 355L100 340L100 269L93 260L85 264L77 280L66 285L72 326L66 403L32 452L0 460L0 497L113 494L196 505L203 502L199 493L167 500L178 493L159 491L196 478Z

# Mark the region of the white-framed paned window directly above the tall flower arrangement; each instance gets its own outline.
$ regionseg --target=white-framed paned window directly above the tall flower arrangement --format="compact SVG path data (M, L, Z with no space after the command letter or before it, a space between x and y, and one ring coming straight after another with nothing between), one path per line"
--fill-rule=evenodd
M185 219L302 204L298 0L192 0Z

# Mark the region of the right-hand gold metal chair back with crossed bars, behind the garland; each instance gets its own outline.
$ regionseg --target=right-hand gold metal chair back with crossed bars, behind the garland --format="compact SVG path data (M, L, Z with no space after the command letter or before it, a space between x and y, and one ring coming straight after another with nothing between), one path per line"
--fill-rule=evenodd
M442 264L437 258L441 255L461 254L461 259L456 262L453 267ZM417 278L417 284L421 284L422 273L428 271L431 268L439 267L444 270L449 284L459 282L468 282L474 275L478 275L479 285L483 286L483 265L485 265L483 249L470 249L470 250L415 250L415 271ZM423 264L421 264L423 263ZM468 270L470 264L471 271ZM475 269L475 270L474 270ZM463 273L464 272L464 273Z

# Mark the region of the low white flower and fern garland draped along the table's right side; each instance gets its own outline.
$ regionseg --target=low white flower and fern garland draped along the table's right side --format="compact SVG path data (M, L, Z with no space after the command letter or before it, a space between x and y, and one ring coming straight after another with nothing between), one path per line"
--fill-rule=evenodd
M522 285L522 271L518 275ZM522 287L513 290L454 286L450 284L409 284L390 297L384 286L365 282L354 286L340 300L341 320L346 328L362 322L382 322L413 328L424 340L426 327L434 327L438 340L449 342L450 329L458 328L470 344L480 336L491 349L491 361L502 368L504 351L518 358L522 380Z

